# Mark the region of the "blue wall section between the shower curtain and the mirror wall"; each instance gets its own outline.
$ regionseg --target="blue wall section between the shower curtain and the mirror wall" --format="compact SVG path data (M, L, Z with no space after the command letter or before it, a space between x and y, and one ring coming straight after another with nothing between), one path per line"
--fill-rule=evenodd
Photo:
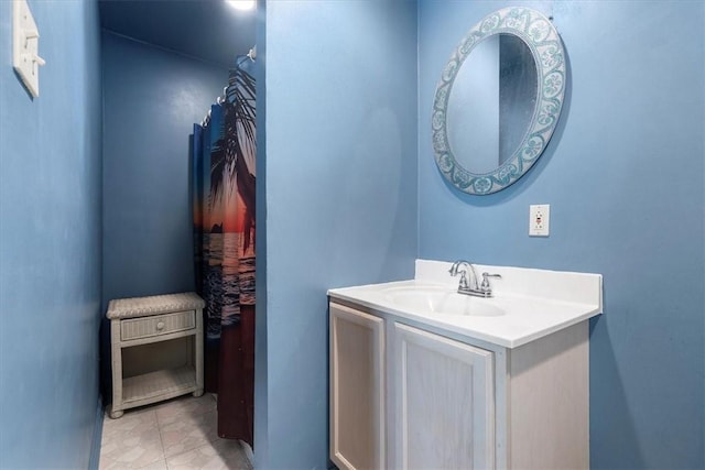
M258 271L268 277L267 331L258 342L267 335L268 369L256 371L259 386L267 383L267 396L256 396L256 467L321 469L326 289L413 275L416 6L268 2L265 20L267 190L258 205L267 205L267 234Z

